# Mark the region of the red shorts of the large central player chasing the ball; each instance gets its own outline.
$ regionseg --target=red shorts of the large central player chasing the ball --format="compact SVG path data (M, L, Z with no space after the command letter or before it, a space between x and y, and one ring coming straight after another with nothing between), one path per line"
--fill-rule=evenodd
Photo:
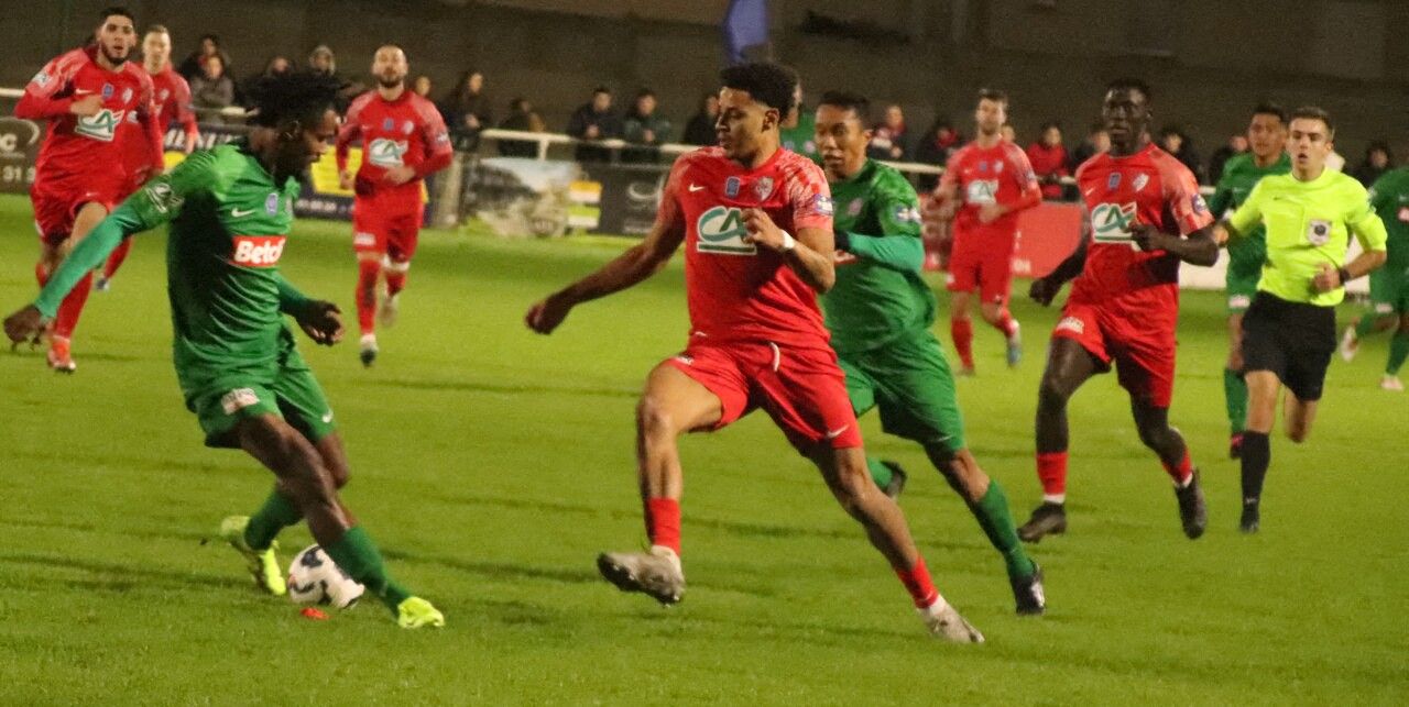
M666 363L719 397L720 430L761 407L806 453L824 444L861 446L861 430L847 397L847 379L830 346L793 348L768 341L704 342L695 338Z

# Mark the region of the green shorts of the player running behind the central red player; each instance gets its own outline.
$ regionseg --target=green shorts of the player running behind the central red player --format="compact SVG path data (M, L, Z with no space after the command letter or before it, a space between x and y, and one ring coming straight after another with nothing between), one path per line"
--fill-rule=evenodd
M881 428L921 445L964 449L964 415L944 348L929 331L838 356L857 417L881 408Z

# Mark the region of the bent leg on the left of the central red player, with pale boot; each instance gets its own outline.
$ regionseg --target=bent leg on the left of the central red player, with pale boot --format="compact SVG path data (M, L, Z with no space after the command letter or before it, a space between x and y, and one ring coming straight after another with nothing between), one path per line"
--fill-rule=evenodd
M689 363L681 359L689 359ZM712 387L676 363L690 366ZM727 421L726 414L733 418L743 411L747 390L730 384L735 377L733 362L719 349L692 349L655 366L647 377L635 413L635 449L637 486L651 548L648 552L606 552L597 558L597 570L623 592L641 592L662 604L682 599L681 496L685 476L679 437L712 430ZM713 390L728 393L721 396Z

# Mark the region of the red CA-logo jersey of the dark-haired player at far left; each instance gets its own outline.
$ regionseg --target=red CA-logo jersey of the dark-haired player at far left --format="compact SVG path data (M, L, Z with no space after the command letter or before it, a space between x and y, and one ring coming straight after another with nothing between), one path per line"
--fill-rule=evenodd
M73 49L46 63L14 108L15 117L49 121L35 165L38 192L76 180L83 189L116 199L127 180L128 139L145 145L149 163L162 161L151 77L132 62L110 72L97 65L96 51ZM73 101L87 96L103 99L96 115L69 113Z

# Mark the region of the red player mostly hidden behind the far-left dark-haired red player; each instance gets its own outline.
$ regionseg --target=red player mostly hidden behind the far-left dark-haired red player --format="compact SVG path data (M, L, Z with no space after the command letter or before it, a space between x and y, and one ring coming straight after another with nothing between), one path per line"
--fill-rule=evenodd
M196 149L196 141L200 139L200 130L196 127L196 114L190 110L190 86L186 83L186 79L172 69L170 56L170 32L159 24L148 27L147 34L142 37L142 69L152 77L152 104L156 113L156 125L161 128L162 135L165 135L170 130L172 123L180 123L186 135L182 148L183 152L190 155ZM137 130L135 125L130 125L130 128ZM123 190L123 197L125 199L147 183L151 177L152 163L148 155L149 148L142 139L127 139L124 144L127 145L127 169L130 176L127 189ZM103 275L93 283L94 290L107 292L113 276L117 275L117 269L123 266L123 261L127 259L127 254L131 249L132 239L125 238L107 256L107 263L103 265Z

